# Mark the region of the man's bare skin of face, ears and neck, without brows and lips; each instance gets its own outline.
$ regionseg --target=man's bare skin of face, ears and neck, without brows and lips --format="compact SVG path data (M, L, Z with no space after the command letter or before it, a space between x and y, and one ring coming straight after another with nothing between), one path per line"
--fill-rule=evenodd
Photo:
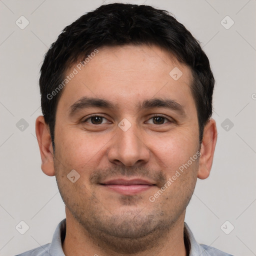
M48 126L42 116L36 119L41 168L56 175L66 205L63 251L68 256L186 255L185 208L197 177L209 175L215 121L206 123L200 145L191 71L164 49L124 45L98 51L63 88L54 154ZM182 71L178 80L169 75L174 67ZM70 106L82 97L108 100L114 108L87 106L69 115ZM174 100L183 110L139 109L142 101L154 98ZM91 114L104 118L88 118ZM160 124L153 118L159 114L164 117L158 117ZM130 125L126 131L118 126L123 118ZM198 151L200 157L150 201ZM80 175L74 183L67 178L72 169ZM114 178L142 178L154 185L121 194L100 184Z

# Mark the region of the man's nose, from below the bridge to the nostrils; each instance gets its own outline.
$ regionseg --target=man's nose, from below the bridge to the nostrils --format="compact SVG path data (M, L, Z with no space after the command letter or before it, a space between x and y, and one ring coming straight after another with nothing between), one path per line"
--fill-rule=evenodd
M135 124L126 131L117 127L116 135L109 145L108 160L114 164L126 166L147 163L150 151L140 134Z

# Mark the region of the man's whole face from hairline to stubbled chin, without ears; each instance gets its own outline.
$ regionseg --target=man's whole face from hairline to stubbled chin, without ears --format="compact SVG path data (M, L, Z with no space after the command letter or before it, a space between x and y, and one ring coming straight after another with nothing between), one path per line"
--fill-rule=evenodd
M173 68L182 72L178 79L178 69L169 75ZM55 174L67 215L92 237L141 242L183 223L200 147L191 79L190 69L167 51L125 45L98 48L64 87ZM73 169L80 175L75 182L67 178Z

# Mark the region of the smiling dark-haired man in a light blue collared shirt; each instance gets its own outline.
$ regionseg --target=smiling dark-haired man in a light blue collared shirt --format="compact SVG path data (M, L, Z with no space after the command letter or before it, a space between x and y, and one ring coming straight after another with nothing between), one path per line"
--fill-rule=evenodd
M217 132L209 61L182 24L151 6L102 5L51 45L39 84L41 168L66 219L20 255L230 255L184 223Z

